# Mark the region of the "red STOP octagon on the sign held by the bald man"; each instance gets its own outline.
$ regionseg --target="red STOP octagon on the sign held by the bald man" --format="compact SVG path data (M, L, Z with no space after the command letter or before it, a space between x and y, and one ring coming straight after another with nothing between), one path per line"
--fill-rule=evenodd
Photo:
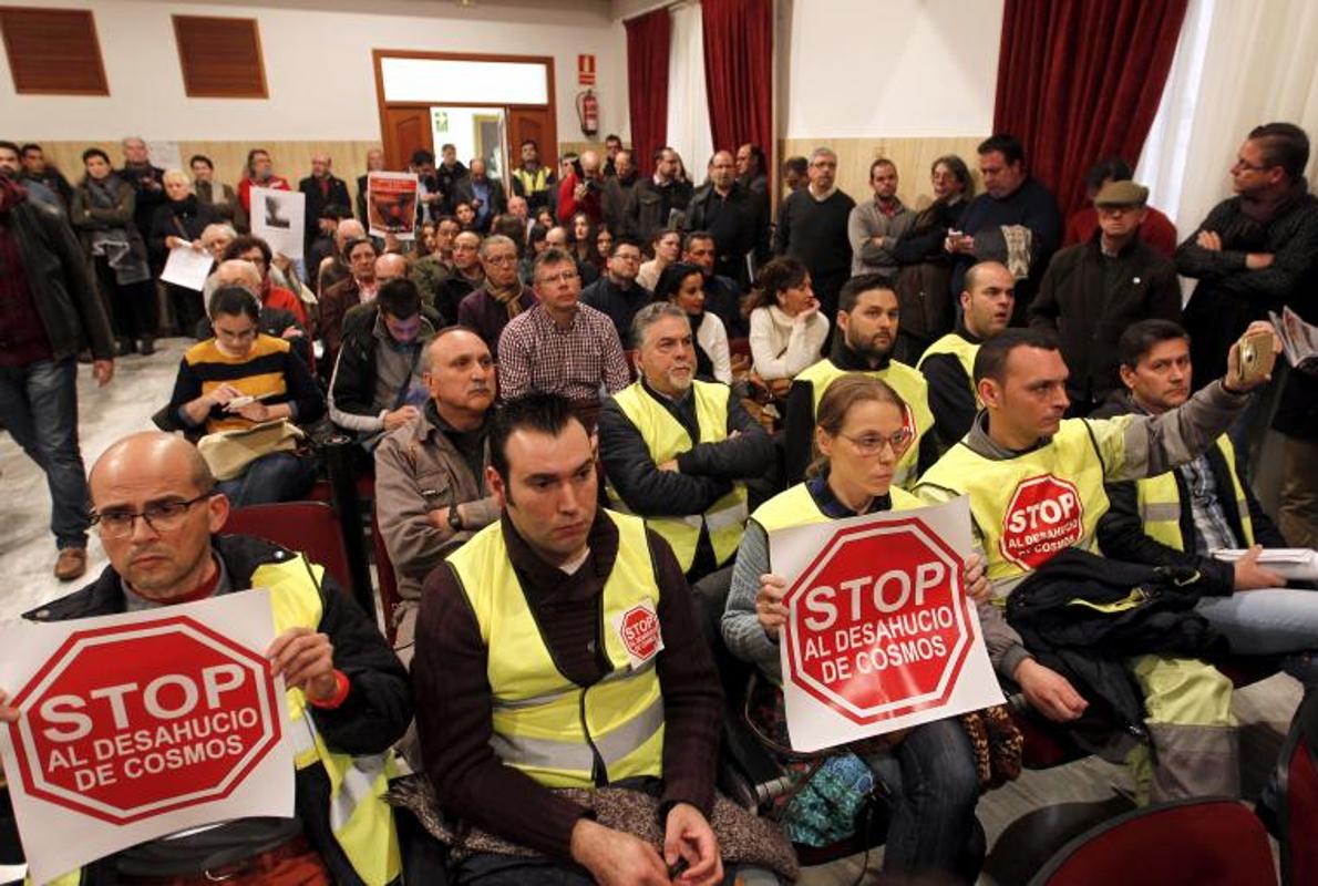
M279 741L269 662L187 616L74 632L18 692L28 794L113 824L220 800Z

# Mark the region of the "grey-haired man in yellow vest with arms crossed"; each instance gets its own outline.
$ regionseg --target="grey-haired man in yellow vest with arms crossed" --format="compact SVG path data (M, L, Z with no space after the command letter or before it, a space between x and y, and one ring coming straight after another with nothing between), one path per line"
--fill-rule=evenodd
M696 381L685 312L647 305L633 320L638 378L600 410L610 497L672 546L688 581L731 564L746 525L746 480L774 443L728 385Z

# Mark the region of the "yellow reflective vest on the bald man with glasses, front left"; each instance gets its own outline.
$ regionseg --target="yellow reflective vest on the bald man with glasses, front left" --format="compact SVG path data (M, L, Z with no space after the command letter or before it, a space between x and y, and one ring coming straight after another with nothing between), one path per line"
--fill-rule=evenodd
M252 574L253 587L270 588L275 635L290 628L315 630L320 625L323 610L318 588L323 575L323 567L302 558L264 564ZM332 752L312 717L306 716L307 703L302 691L289 690L285 700L294 765L306 769L319 763L328 777L330 829L335 840L366 886L389 883L402 871L393 810L384 799L389 778L395 774L391 753L353 757Z

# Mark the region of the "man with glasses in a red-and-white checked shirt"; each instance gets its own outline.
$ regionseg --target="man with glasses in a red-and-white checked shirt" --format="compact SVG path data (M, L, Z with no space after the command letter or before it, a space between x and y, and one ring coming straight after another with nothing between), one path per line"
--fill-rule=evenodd
M608 315L580 303L581 276L572 256L546 249L534 274L539 303L514 316L500 336L500 394L561 394L593 431L601 389L614 393L631 382L618 332Z

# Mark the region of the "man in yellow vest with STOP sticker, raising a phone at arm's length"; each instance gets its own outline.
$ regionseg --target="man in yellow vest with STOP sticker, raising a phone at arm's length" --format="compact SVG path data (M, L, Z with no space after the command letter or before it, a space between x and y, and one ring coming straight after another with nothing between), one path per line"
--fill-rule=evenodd
M1251 332L1268 332L1267 323ZM1273 339L1280 349L1280 343ZM1267 376L1239 374L1232 345L1226 378L1161 415L1066 419L1066 364L1048 332L1008 330L975 356L975 390L985 409L970 432L920 479L929 501L970 496L975 542L985 552L995 601L1070 547L1095 551L1108 508L1104 481L1155 476L1213 446ZM1070 723L1089 701L1061 674L1040 664L1002 617L985 638L999 674L1015 680L1044 716ZM1238 794L1238 736L1231 682L1190 658L1143 655L1130 670L1144 696L1155 750L1152 774L1136 750L1141 792L1152 799ZM1126 750L1131 750L1127 748ZM1148 779L1152 777L1152 783Z

